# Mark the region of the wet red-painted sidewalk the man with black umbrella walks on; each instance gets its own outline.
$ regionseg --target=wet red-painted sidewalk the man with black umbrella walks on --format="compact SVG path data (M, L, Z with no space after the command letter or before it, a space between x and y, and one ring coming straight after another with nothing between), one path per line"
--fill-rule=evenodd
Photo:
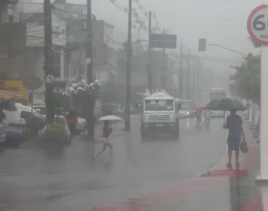
M255 184L255 178L260 172L260 146L252 138L250 122L244 120L243 128L249 153L240 153L239 170L226 169L226 153L212 170L200 177L155 193L128 198L87 211L268 210L268 187Z

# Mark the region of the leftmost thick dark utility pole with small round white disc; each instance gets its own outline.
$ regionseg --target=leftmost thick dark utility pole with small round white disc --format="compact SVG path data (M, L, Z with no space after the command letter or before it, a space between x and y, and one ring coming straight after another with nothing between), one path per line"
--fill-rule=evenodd
M46 79L46 122L54 122L54 71L52 56L52 20L50 0L44 0L44 75Z

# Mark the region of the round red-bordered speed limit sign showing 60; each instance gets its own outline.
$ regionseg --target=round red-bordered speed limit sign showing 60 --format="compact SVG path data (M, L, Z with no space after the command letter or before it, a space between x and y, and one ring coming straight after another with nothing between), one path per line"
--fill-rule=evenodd
M257 44L268 45L267 4L257 6L248 16L248 33Z

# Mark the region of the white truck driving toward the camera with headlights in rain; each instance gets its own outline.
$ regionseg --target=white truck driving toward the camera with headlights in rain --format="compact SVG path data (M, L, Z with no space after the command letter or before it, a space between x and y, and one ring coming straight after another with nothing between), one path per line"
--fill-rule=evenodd
M150 96L145 96L142 105L141 135L169 133L177 137L180 108L181 104L176 103L175 98L169 96L166 91L157 91Z

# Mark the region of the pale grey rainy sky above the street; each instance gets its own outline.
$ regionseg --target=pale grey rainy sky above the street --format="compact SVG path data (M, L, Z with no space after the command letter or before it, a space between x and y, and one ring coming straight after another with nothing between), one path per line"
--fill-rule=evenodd
M116 2L128 7L128 0L116 0ZM86 4L86 0L67 0L67 3ZM222 60L240 60L241 56L212 46L207 46L207 52L199 53L197 52L198 39L207 38L207 43L220 44L243 53L248 53L248 51L257 53L259 49L253 48L248 40L246 23L252 9L264 3L268 4L268 1L140 0L140 4L146 11L156 13L159 26L169 28L171 33L177 34L178 41L183 41L185 47L189 48L192 53L201 57L221 58ZM138 8L134 1L133 8ZM126 40L127 13L116 8L110 0L92 0L92 13L98 19L104 19L116 27L114 36L116 41ZM147 18L139 10L138 13L147 23ZM155 25L154 22L153 25ZM135 30L133 33L137 34ZM142 32L139 33L138 38L147 39L147 36L147 32ZM184 48L183 51L186 52L187 49ZM239 64L207 58L202 59L202 63L219 72L229 72L231 64Z

